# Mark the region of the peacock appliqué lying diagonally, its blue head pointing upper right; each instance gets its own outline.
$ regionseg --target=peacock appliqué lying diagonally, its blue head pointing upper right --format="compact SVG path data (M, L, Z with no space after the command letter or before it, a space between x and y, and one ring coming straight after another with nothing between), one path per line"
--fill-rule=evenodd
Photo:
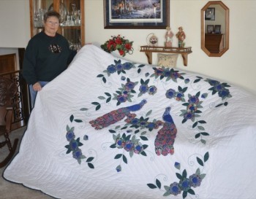
M124 117L135 118L136 114L132 114L131 112L137 112L144 106L144 104L146 104L146 102L147 101L144 99L143 101L140 101L139 104L113 110L112 112L104 114L101 117L97 117L95 120L91 120L89 123L96 130L99 130L123 120Z

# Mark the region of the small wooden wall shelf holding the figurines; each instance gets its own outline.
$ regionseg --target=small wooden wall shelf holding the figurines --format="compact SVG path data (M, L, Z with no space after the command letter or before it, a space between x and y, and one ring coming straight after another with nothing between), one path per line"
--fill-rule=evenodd
M183 58L184 66L187 66L187 55L192 53L192 47L153 47L153 46L141 46L140 52L145 52L148 63L152 64L152 52L165 52L165 53L175 53L181 54Z

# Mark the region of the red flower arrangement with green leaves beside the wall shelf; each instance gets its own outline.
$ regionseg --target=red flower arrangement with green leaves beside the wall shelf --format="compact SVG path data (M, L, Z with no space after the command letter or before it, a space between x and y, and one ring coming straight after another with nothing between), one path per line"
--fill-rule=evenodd
M118 34L118 36L111 36L111 39L106 41L105 44L102 44L100 47L109 53L118 50L119 54L124 57L126 53L132 55L132 43L133 42L129 42L128 39L124 39L124 36Z

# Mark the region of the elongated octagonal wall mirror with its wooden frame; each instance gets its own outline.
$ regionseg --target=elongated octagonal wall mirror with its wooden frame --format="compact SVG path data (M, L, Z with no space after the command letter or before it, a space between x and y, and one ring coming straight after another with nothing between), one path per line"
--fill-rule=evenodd
M229 48L230 10L222 1L208 1L201 9L201 49L221 57Z

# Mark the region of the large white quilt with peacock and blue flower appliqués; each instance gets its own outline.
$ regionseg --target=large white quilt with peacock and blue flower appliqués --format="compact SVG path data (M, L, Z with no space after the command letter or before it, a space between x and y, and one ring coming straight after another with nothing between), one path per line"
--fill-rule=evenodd
M55 198L256 198L256 97L86 45L37 95L4 178Z

